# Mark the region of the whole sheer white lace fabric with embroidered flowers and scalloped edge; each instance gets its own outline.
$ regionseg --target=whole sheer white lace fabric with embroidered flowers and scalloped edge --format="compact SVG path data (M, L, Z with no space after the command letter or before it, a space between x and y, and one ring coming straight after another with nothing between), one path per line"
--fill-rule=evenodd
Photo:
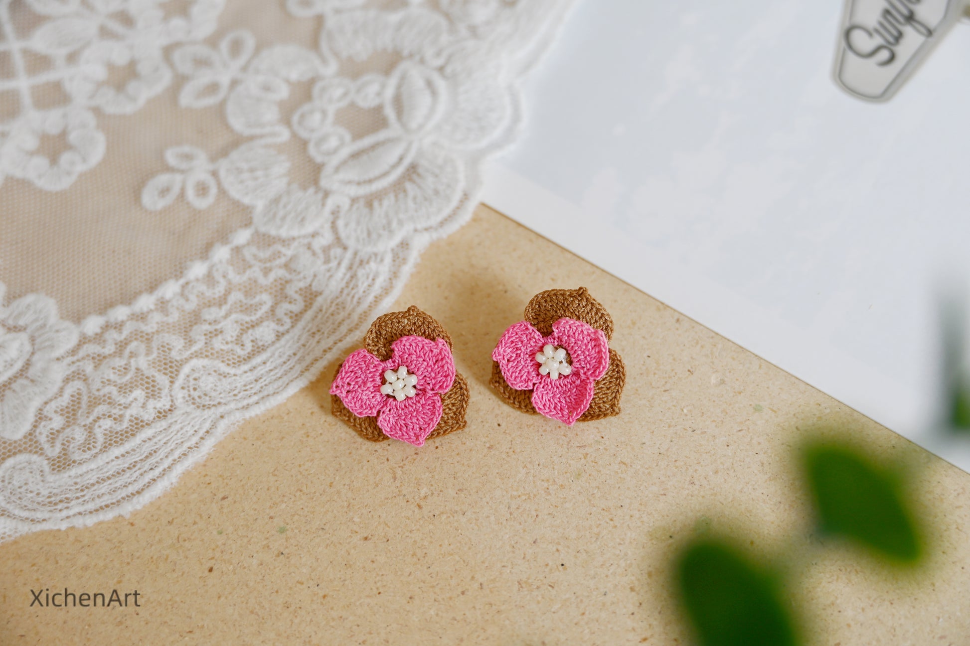
M567 0L0 0L0 540L157 497L461 225Z

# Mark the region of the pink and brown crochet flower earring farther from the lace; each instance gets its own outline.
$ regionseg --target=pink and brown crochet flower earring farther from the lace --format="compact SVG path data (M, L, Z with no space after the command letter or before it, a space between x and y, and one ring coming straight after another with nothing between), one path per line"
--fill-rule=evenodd
M492 387L519 410L569 426L617 415L627 374L612 335L613 319L585 287L536 294L492 353Z

